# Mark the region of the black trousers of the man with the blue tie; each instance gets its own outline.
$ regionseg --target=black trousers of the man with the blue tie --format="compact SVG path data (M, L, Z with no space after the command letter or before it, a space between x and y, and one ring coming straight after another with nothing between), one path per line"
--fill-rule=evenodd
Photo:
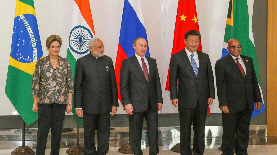
M178 106L180 119L180 151L181 155L191 153L191 123L193 122L193 154L203 155L205 149L205 121L207 108L201 108L199 103L195 108Z

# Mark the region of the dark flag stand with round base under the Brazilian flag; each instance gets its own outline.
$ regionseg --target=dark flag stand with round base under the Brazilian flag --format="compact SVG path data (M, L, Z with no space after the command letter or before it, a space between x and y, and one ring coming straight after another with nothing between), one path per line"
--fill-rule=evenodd
M11 153L12 155L35 155L35 151L32 150L29 146L25 146L25 122L23 121L22 125L22 146L18 146Z

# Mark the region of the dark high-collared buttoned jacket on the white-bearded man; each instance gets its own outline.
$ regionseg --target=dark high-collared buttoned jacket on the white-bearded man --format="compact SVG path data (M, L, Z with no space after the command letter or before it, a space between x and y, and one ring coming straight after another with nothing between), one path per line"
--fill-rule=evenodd
M112 59L89 53L76 62L74 79L74 108L84 113L110 113L118 106L116 76Z

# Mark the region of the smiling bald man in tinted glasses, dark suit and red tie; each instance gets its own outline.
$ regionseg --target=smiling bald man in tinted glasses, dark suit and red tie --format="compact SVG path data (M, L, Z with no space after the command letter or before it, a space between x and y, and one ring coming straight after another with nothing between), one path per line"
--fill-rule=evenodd
M246 155L252 111L261 108L261 92L253 60L240 55L237 39L228 41L229 55L215 65L217 97L222 111L222 154Z

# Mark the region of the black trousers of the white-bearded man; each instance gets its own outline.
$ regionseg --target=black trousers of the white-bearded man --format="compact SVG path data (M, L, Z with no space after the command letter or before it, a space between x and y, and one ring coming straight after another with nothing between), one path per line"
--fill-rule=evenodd
M86 155L105 155L108 153L111 127L110 117L110 113L83 113L84 148ZM97 130L97 150L94 142L95 130Z

